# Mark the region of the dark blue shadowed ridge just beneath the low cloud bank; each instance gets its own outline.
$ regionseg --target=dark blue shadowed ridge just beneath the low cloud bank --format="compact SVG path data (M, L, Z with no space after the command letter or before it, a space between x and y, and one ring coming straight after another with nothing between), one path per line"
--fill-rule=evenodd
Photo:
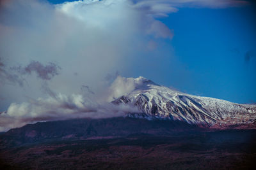
M201 132L204 129L182 121L141 118L80 118L27 124L0 134L0 149L24 143L58 141L67 139L116 138L131 134L170 136L173 134Z

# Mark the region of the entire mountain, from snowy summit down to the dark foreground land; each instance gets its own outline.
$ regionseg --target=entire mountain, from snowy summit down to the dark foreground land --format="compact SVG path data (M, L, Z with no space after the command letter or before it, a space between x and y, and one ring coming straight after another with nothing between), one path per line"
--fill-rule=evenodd
M137 112L0 133L0 169L255 167L255 105L184 94L142 77L118 77L111 87L116 108Z

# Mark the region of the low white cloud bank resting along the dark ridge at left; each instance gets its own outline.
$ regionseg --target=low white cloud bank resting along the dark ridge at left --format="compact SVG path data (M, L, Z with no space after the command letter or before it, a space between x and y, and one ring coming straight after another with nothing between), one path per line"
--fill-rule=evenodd
M125 80L121 77L118 79ZM125 82L131 83L130 79ZM120 83L121 80L117 81L116 83ZM112 103L97 103L96 101L88 103L86 96L81 94L66 96L52 93L45 99L30 99L28 102L20 104L12 103L7 111L0 113L0 131L7 131L34 122L68 118L122 117L125 113L136 112L138 109L129 105L118 106Z

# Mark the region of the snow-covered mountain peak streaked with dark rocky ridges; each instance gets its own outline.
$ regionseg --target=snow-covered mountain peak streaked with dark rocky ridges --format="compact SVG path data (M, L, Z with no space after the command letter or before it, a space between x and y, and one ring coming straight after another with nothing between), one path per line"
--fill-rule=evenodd
M119 94L125 94L119 95L112 103L134 104L149 118L170 118L210 127L216 124L252 124L256 120L255 104L236 104L211 97L193 96L157 85L143 77L118 77L113 87L129 88L126 91L119 90Z

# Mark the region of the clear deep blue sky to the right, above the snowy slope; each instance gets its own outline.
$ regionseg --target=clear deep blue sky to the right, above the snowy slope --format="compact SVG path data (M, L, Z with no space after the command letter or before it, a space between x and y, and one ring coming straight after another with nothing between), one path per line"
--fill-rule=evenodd
M156 55L160 53L161 57L145 63L152 69L138 66L124 76L145 76L189 94L236 103L256 102L252 2L235 8L179 8L177 13L157 19L173 30L173 39L158 42ZM147 57L139 60L145 62Z

